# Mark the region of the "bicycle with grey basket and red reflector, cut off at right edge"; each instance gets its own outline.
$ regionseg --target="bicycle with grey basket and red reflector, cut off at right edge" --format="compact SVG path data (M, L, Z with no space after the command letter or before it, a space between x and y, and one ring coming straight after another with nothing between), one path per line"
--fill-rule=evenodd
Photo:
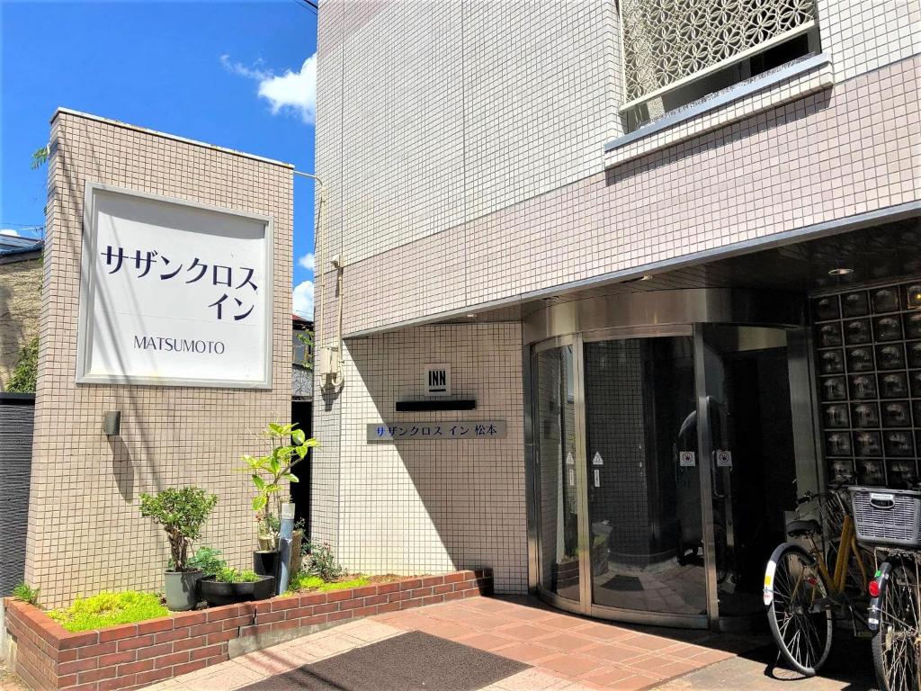
M880 489L868 492L870 539L900 546L876 546L878 568L869 584L867 625L880 691L917 691L921 686L921 556L918 545L919 492ZM914 513L905 512L910 505ZM886 521L892 516L892 520ZM880 520L882 519L882 520ZM863 531L861 531L863 532ZM883 555L880 563L880 555Z

